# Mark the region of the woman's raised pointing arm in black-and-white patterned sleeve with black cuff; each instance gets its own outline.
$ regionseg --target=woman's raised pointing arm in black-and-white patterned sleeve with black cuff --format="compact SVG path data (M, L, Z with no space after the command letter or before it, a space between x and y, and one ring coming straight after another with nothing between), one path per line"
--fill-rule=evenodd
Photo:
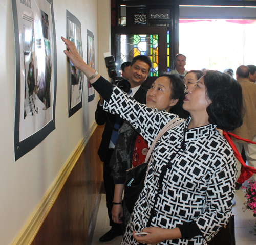
M76 46L73 42L61 37L67 45L68 50L64 53L70 58L72 63L81 70L87 78L95 75L95 70L89 67L79 56ZM147 140L148 146L151 145L157 133L177 115L167 113L166 111L157 111L141 105L129 95L114 87L99 74L90 79L93 87L104 98L105 110L112 114L119 114L121 118L131 122L137 131ZM113 90L113 92L112 92Z

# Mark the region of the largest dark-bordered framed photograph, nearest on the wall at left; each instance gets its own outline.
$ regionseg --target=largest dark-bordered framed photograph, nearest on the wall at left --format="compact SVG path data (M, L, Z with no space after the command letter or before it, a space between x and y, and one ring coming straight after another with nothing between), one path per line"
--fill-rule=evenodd
M56 37L51 0L12 0L16 106L15 161L55 129Z

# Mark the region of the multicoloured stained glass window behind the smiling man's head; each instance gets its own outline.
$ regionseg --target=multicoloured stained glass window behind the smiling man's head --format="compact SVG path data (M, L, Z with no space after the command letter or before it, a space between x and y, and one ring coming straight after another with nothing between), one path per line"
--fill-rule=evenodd
M116 35L117 70L125 61L132 61L137 55L146 55L152 61L149 76L158 76L158 35ZM120 74L119 74L120 75Z

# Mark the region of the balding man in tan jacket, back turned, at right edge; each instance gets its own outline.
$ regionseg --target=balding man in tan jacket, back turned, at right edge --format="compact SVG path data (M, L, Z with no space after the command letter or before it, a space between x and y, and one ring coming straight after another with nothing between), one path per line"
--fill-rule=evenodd
M242 86L244 121L243 125L232 131L232 133L241 138L256 142L256 84L250 81L250 71L249 67L246 65L239 66L236 75L238 82ZM240 153L244 146L248 166L256 168L256 145L234 139L233 137L232 140ZM253 178L256 179L255 177L256 175L254 174ZM236 184L236 187L239 188L238 184Z

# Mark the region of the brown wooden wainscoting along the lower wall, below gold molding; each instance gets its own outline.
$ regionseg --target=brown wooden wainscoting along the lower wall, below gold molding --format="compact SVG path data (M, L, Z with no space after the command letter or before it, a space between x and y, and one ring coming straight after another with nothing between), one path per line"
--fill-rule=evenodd
M97 154L103 129L94 130L30 244L91 244L103 180L103 163Z

